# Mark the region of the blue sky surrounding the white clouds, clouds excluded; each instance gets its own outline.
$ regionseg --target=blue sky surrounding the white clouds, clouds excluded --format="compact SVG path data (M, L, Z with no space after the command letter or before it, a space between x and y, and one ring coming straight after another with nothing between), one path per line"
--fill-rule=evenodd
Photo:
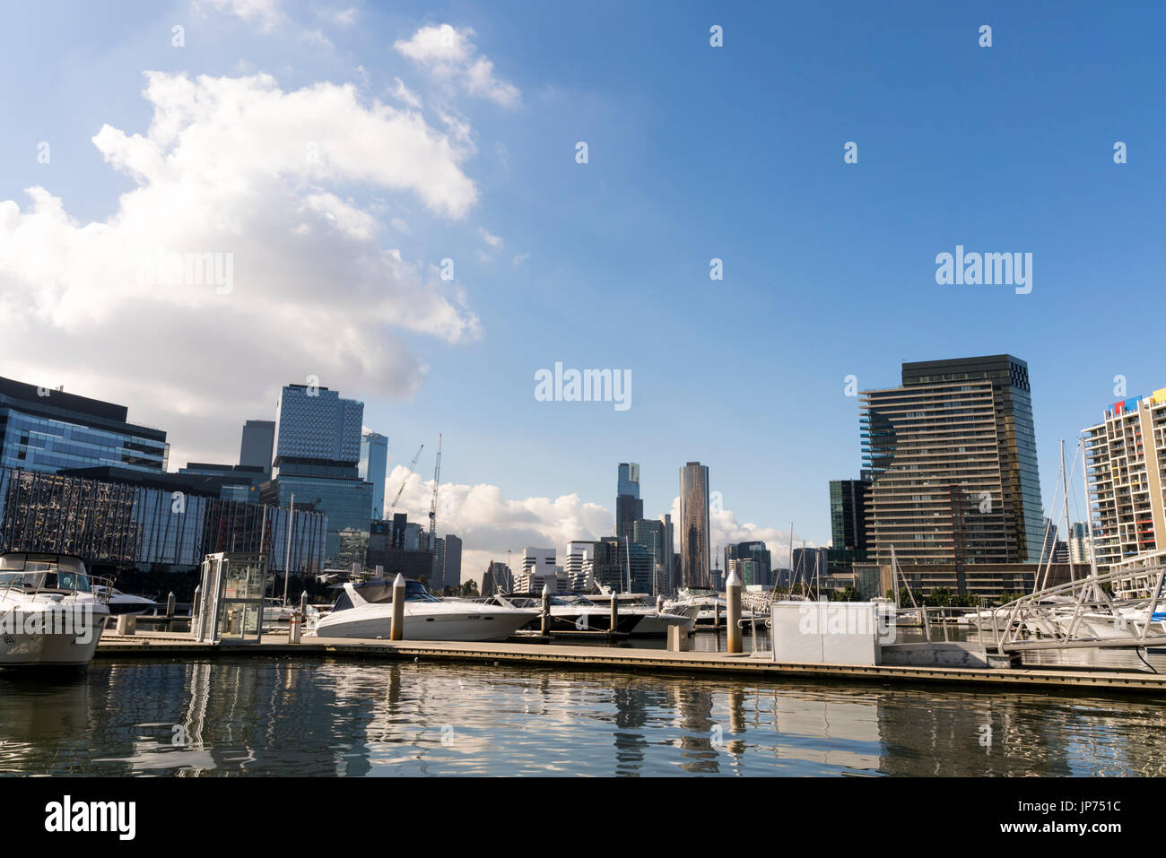
M366 402L392 464L424 442L419 470L430 473L442 431L443 481L511 499L575 493L610 511L616 464L635 460L645 511L659 515L680 466L698 459L738 522L785 533L793 520L826 542L828 480L859 467L848 374L886 387L902 360L1027 360L1046 505L1059 439L1118 399L1115 375L1130 396L1166 386L1144 324L1164 275L1158 5L293 2L267 21L219 6L9 10L0 201L23 210L24 189L42 185L78 224L113 217L135 182L91 138L103 125L146 133L146 70L264 72L283 92L352 83L365 105L395 104L401 78L434 128L438 108L456 111L472 129L459 167L477 189L461 217L416 192L333 189L380 221L408 221L407 233L385 227L382 248L419 267L454 259L480 326L456 343L394 335L427 367L405 394L367 373L321 375ZM456 86L433 94L431 77L393 45L440 24L472 30L476 56L520 92L517 104ZM722 48L709 45L712 24ZM981 24L991 48L978 45ZM581 140L586 164L575 161ZM38 141L51 142L50 164L37 163ZM857 164L843 163L847 141ZM1114 163L1115 141L1128 163ZM935 255L956 245L1032 253L1032 293L937 286ZM724 280L709 279L711 258ZM317 286L322 305L339 288ZM69 336L35 314L24 321L49 349ZM279 372L252 378L251 350L280 344L224 345L243 350L240 389L213 427L168 412L148 387L133 398L126 375L169 372L154 360L127 367L90 351L87 374L66 389L120 395L169 430L176 455L225 459L234 424L268 416L272 391L314 368L288 353L260 361ZM22 373L37 370L22 361ZM555 361L630 370L632 407L535 401L534 373ZM72 379L69 366L42 372Z

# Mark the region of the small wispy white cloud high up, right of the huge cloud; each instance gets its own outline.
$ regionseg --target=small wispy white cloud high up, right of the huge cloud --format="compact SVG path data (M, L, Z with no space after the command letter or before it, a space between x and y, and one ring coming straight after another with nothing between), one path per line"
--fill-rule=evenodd
M393 47L424 68L440 84L486 98L503 107L514 107L522 98L518 87L494 76L494 64L478 55L471 42L473 30L448 23L422 27L409 40Z

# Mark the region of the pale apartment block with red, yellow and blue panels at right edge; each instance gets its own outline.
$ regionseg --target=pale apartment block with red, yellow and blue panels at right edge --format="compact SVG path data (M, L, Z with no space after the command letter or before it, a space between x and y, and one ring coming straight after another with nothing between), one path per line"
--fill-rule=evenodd
M1166 388L1115 402L1082 434L1097 565L1166 549Z

